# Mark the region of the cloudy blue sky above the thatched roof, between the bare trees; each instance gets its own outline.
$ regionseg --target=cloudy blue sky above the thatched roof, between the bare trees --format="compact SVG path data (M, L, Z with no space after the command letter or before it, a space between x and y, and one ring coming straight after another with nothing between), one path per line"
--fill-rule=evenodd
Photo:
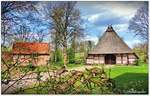
M143 6L143 1L79 1L76 7L81 12L82 27L87 32L87 40L98 42L98 38L112 25L125 43L133 48L140 39L128 30L129 20Z

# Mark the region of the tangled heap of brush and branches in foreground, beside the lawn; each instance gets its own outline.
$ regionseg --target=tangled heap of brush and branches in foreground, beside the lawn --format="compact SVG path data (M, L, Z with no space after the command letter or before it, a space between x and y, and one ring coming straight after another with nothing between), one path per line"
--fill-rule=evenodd
M25 89L24 93L108 94L113 92L114 85L113 80L107 76L104 69L95 67L86 69L85 72L72 70L66 76L50 77L48 81L38 84L32 90Z

